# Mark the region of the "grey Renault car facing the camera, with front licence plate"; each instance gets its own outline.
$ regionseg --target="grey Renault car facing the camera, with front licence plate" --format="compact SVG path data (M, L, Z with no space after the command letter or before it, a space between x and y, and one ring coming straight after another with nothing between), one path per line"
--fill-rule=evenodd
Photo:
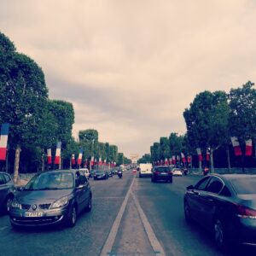
M9 207L14 228L65 224L73 227L81 212L90 212L90 183L79 170L40 172L15 193Z

